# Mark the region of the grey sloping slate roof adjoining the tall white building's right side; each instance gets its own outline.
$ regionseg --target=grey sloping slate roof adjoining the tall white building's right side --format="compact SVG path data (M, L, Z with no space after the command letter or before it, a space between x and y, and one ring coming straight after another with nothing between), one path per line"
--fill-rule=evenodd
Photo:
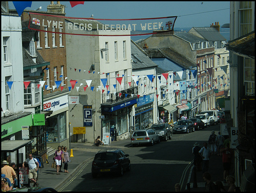
M133 70L156 68L158 65L152 61L147 54L131 39L131 56L133 59Z

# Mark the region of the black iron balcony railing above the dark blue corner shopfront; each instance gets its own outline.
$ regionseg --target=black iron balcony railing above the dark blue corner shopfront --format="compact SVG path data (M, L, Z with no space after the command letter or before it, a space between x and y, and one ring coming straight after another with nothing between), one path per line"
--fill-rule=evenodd
M122 93L119 96L119 93ZM125 94L127 94L127 96L125 97ZM117 93L109 93L109 94L102 94L102 103L115 103L118 101L122 101L126 98L131 98L132 94L137 95L138 94L138 88L137 87L133 87L130 89L126 89Z

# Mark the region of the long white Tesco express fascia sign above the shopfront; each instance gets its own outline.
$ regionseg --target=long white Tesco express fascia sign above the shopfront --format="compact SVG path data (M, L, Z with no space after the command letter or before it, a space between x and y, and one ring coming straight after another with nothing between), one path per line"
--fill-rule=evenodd
M68 95L44 102L44 111L57 111L69 106Z

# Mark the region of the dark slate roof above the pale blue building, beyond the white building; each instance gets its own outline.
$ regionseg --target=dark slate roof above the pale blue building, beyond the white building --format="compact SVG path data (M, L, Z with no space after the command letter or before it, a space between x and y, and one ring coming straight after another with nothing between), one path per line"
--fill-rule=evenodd
M184 69L197 67L196 63L188 60L185 56L179 54L170 47L158 49L145 49L144 51L147 53L148 56L153 58L167 58Z

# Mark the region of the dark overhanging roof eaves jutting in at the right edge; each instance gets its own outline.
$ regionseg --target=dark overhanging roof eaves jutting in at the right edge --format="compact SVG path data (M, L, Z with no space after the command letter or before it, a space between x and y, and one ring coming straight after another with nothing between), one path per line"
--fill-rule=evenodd
M255 58L255 33L254 31L229 41L227 49L239 54Z

